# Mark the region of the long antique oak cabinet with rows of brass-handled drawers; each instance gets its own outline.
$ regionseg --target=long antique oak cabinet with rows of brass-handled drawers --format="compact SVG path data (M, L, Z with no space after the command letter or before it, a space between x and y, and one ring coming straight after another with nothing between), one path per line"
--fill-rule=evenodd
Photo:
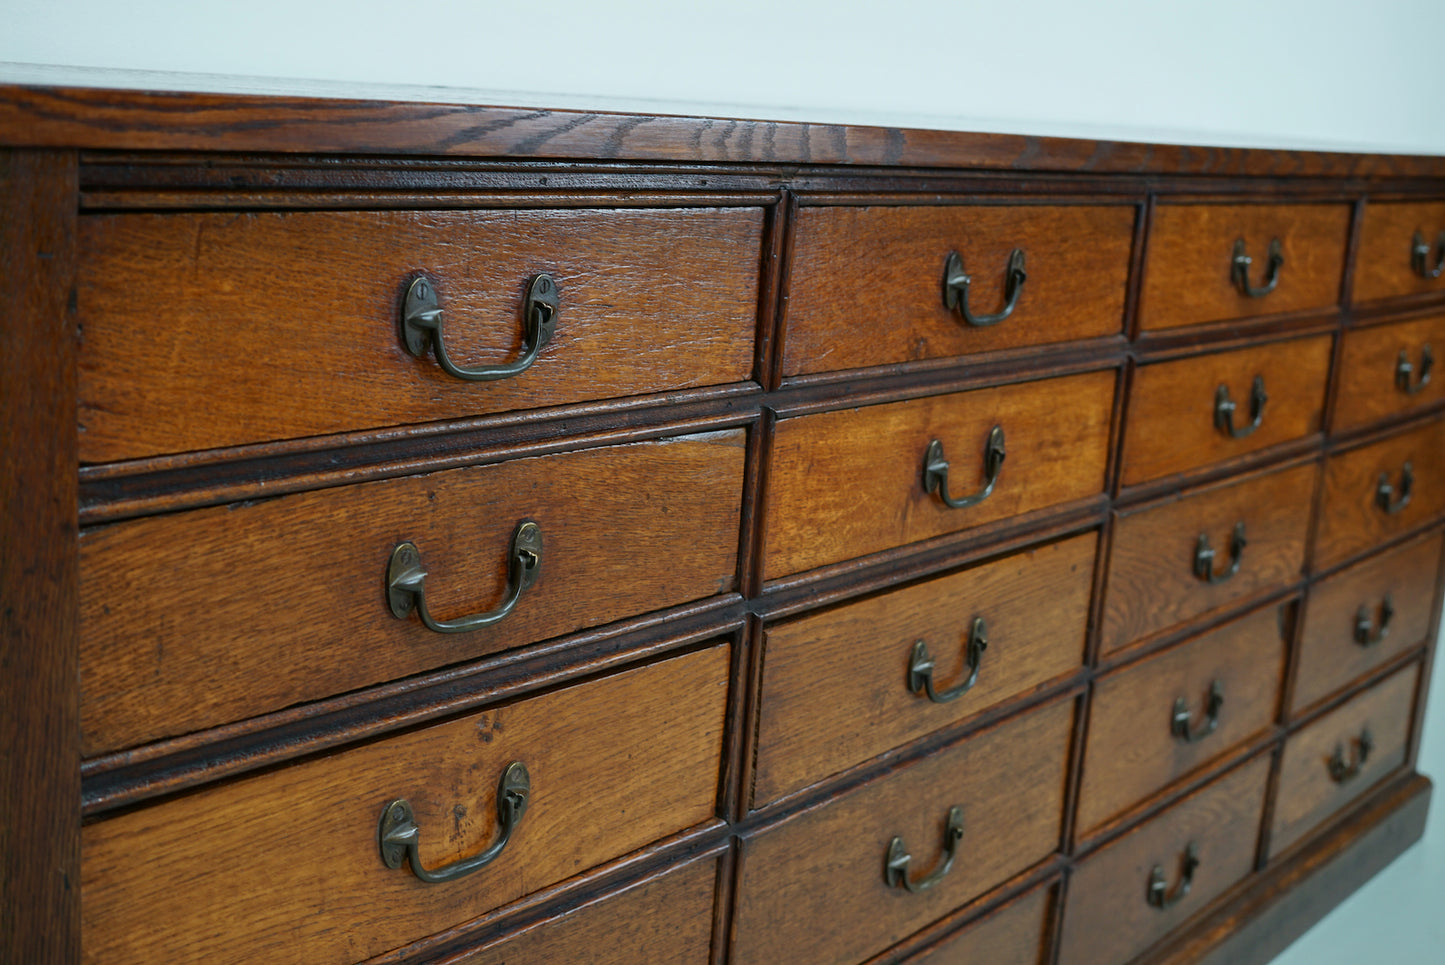
M1439 159L0 144L6 961L1263 962L1422 832Z

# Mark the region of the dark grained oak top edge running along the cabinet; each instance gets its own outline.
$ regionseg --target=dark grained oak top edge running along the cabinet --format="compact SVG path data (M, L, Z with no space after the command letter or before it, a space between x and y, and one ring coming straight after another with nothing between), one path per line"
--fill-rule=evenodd
M1118 175L1445 178L1445 157L668 114L0 85L0 144Z

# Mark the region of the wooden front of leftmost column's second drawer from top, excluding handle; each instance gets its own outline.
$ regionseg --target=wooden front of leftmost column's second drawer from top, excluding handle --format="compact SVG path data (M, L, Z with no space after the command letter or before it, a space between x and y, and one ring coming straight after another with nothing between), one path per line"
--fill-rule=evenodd
M743 443L741 429L682 436L90 530L85 753L725 591L736 584ZM389 559L407 540L436 620L497 608L516 585L509 561L522 520L540 530L540 575L506 618L434 633L416 613L393 615Z

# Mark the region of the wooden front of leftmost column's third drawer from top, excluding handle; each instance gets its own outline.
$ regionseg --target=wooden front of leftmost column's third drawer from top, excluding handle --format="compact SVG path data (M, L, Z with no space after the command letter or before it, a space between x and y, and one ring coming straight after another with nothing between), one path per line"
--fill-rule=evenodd
M718 646L87 825L85 961L354 962L708 821L727 679ZM530 795L491 864L383 862L394 799L425 870L484 851L512 761Z

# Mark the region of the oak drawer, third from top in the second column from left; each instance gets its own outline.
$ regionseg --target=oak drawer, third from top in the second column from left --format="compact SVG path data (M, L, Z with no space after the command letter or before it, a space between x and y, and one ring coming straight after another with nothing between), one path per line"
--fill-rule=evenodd
M1097 543L1077 536L769 627L753 806L1079 669ZM919 641L948 702L907 673Z

